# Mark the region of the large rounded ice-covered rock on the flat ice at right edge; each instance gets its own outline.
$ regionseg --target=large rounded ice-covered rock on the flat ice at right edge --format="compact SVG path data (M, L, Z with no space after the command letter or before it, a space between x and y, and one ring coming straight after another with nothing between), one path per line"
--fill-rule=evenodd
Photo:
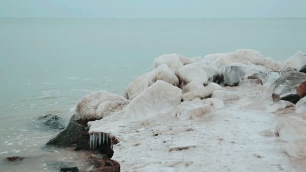
M285 141L306 140L306 121L296 116L287 117L277 125L276 133Z

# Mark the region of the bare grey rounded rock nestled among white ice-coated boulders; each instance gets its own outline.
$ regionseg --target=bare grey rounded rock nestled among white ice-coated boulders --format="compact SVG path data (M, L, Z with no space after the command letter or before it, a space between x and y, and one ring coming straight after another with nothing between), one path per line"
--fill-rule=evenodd
M246 74L241 66L235 65L224 66L220 73L218 84L223 86L237 86Z

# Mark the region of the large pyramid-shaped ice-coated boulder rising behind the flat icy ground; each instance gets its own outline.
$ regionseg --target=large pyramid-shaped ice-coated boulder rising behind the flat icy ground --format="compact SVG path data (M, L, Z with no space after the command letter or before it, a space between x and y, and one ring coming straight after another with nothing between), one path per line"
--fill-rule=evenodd
M157 80L140 93L120 112L120 118L142 120L151 114L165 113L181 103L182 90L163 80Z

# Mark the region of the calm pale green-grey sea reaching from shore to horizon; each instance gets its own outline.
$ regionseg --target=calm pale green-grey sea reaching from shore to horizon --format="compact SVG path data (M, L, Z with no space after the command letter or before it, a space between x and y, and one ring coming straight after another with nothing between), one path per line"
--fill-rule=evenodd
M255 49L284 61L306 52L306 19L0 19L0 171L59 171L82 154L46 147L83 96L122 95L160 55ZM9 162L9 156L23 160ZM85 157L86 158L86 157Z

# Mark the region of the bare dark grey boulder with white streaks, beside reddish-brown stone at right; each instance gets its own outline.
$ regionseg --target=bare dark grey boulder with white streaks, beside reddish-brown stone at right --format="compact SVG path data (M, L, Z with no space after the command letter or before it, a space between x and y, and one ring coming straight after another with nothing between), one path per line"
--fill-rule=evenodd
M288 95L296 95L297 93L295 88L304 80L306 80L305 73L298 71L289 71L288 73L285 73L271 85L271 88L273 89L273 103L276 103L280 100L287 100L292 102L292 98L292 100L296 100L294 96L289 96L286 99L282 98Z

